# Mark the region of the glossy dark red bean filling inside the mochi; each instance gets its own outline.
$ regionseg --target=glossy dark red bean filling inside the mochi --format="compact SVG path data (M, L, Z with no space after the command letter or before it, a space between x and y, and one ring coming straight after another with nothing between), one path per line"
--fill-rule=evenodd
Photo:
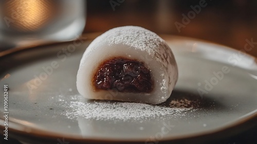
M150 70L144 63L122 57L104 61L93 83L96 89L116 88L118 92L149 93L153 89Z

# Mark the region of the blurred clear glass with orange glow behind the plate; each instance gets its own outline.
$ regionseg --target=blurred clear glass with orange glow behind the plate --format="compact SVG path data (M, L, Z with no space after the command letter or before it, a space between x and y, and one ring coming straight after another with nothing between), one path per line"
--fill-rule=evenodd
M0 1L0 48L68 41L85 27L84 0Z

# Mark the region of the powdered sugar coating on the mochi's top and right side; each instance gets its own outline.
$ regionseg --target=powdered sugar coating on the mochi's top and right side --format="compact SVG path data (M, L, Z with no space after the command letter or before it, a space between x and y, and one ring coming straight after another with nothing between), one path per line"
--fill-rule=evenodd
M178 77L176 61L170 47L156 33L142 27L124 26L108 30L98 37L98 41L107 41L110 46L123 44L148 52L148 54L160 62L164 68L163 73L167 76L166 79L169 80L169 92L172 91L176 83L174 81L177 81ZM163 93L166 93L166 91L164 91L167 88L165 85L166 84L163 83L161 87Z

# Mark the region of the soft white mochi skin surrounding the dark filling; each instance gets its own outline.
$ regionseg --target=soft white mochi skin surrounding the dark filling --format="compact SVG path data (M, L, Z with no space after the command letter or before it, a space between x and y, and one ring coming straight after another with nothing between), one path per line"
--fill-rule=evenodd
M97 89L92 80L99 65L113 57L143 62L150 70L150 93ZM77 88L88 99L120 100L158 104L166 101L178 79L178 69L170 47L156 33L137 26L117 27L97 37L85 50L77 75Z

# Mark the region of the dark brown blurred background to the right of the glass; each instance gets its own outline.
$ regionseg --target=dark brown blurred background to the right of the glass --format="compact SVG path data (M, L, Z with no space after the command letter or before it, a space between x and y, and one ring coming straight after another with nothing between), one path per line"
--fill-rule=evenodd
M136 25L158 34L197 38L240 50L244 49L246 39L257 42L256 8L254 0L87 1L84 32ZM189 22L187 18L183 21L184 17L188 17ZM257 43L255 45L248 53L257 57Z

